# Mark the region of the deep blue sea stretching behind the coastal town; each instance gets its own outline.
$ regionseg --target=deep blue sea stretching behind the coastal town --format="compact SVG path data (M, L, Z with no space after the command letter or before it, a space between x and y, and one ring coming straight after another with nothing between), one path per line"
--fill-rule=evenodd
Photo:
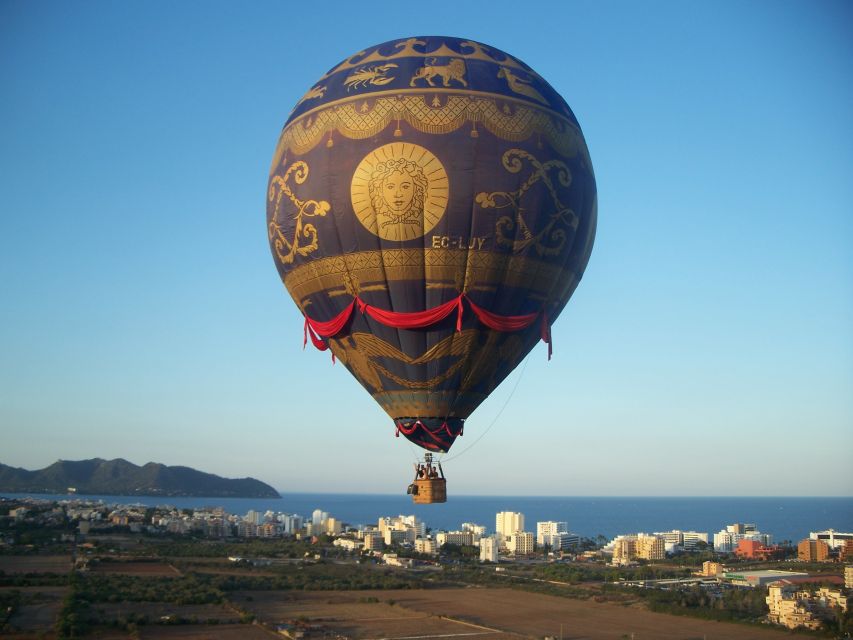
M170 505L180 509L222 507L245 515L274 511L311 517L316 509L352 526L375 525L382 516L411 515L433 530L455 531L463 522L494 531L495 514L524 514L525 528L542 521L567 522L584 537L612 539L623 533L653 533L681 529L711 535L735 522L754 523L774 542L797 542L812 531L853 532L853 497L533 497L451 496L444 504L416 505L405 495L283 493L275 498L164 498L67 494L0 493L7 498L99 500L106 504Z

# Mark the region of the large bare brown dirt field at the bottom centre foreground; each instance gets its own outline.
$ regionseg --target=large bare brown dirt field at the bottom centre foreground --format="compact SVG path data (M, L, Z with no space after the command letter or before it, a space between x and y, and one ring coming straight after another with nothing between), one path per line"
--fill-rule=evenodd
M245 597L252 601L244 601ZM363 600L374 597L379 603ZM289 598L289 599L285 599ZM746 625L651 613L634 607L570 600L512 589L436 589L284 594L234 598L264 622L304 617L350 638L467 636L475 640L559 637L564 640L761 640L811 636ZM395 604L387 604L393 600Z

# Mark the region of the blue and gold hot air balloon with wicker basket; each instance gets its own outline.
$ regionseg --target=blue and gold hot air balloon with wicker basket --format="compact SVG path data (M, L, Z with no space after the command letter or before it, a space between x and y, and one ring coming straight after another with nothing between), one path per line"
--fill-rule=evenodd
M494 47L413 37L323 75L284 125L267 230L305 320L426 450L409 492L446 499L431 454L540 341L583 275L595 178L565 100Z

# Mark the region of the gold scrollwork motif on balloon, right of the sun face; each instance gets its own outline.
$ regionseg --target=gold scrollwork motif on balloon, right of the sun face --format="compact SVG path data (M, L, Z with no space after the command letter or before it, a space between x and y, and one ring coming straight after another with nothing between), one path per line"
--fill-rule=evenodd
M564 162L560 160L539 162L523 149L510 149L504 153L503 167L510 173L519 173L524 167L522 160L532 165L533 171L519 189L491 193L484 191L477 194L475 202L484 209L512 211L512 215L500 217L495 225L495 241L499 245L510 247L513 253L520 253L533 246L540 256L558 255L566 243L565 229L576 229L578 216L560 201L551 173L556 172L557 181L563 187L571 184L572 175ZM554 211L548 215L547 224L538 232L534 232L522 215L524 208L521 206L521 200L524 194L540 181L551 196Z

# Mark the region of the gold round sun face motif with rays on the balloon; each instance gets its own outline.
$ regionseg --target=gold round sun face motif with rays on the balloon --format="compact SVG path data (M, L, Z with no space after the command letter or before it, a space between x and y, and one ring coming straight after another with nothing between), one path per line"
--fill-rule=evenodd
M402 242L420 238L447 209L450 183L428 149L392 142L368 153L350 186L352 208L370 233Z

